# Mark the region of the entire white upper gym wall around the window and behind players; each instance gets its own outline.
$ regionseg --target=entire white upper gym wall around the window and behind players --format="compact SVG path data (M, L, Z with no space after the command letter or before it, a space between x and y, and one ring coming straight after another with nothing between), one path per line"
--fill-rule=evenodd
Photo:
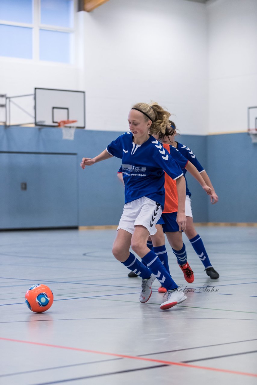
M131 105L152 99L183 134L244 131L257 100L256 15L256 0L109 0L75 12L71 64L0 57L0 92L85 90L90 130L124 131Z

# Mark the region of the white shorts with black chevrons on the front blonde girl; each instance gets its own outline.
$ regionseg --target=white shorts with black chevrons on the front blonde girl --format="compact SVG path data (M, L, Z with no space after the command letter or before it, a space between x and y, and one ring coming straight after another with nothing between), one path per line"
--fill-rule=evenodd
M144 226L150 235L156 233L155 225L161 217L161 205L143 196L126 203L117 230L123 229L133 234L136 225Z

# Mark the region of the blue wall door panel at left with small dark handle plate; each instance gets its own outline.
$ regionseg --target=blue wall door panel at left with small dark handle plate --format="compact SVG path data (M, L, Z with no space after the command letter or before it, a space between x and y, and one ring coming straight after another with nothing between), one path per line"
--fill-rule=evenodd
M0 229L77 226L76 155L0 153L0 164Z

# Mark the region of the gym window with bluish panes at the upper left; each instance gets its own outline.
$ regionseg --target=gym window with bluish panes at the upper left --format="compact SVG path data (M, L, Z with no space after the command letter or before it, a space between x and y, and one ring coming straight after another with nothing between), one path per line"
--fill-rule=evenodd
M70 64L76 0L0 0L0 56Z

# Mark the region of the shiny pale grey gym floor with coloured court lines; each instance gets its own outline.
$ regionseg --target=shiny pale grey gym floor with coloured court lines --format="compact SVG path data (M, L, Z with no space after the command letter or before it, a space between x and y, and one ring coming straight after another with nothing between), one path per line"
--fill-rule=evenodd
M185 238L187 284L167 246L173 279L195 289L168 311L158 281L139 303L141 279L112 256L114 230L1 232L0 383L256 384L257 228L197 230L220 278ZM45 313L24 303L35 283L54 293Z

